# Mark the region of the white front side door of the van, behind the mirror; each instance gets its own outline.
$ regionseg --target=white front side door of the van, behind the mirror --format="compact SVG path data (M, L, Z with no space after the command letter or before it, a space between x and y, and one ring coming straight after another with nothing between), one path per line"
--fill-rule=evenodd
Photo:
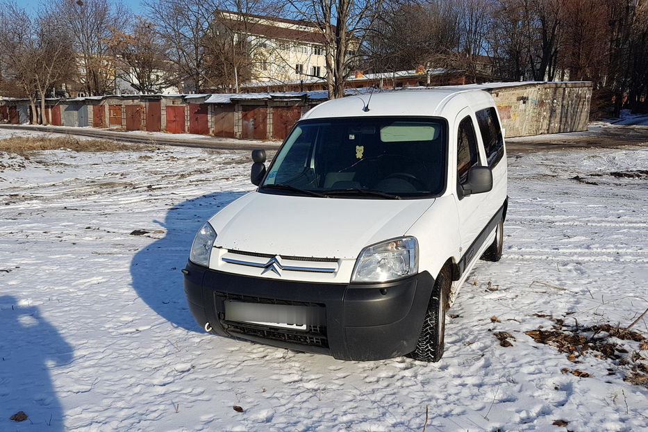
M477 140L478 129L472 111L462 110L455 120L454 137L456 140L456 165L454 187L460 190L465 182L468 170L474 166L486 165L483 147ZM459 263L461 271L474 260L481 244L476 240L485 228L492 215L488 215L485 205L490 199L490 192L471 194L462 197L460 192L455 194L457 212L459 215L459 233L461 238L462 258Z

